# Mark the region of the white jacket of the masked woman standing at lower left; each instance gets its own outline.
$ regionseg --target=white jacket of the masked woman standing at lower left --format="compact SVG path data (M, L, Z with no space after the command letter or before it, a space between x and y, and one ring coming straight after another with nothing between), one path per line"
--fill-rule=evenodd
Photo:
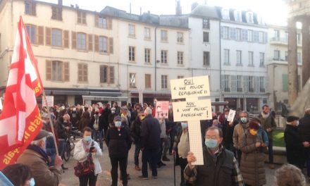
M99 163L99 157L102 156L102 151L99 147L99 144L97 142L95 142L94 140L92 140L90 143L94 142L94 147L97 149L96 153L92 153L92 160L94 162L94 175L97 175L99 173L101 173L101 166ZM84 144L83 144L83 139L81 139L80 141L78 141L75 144L74 147L74 152L73 152L73 158L76 159L77 161L83 162L87 160L87 155L89 153L85 151L84 149Z

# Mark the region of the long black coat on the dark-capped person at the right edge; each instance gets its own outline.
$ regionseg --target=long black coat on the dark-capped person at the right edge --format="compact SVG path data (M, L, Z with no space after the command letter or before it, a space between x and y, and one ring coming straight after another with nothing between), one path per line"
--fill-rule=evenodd
M300 135L299 129L292 125L286 125L284 140L287 162L299 168L303 167L306 154L304 145L302 144L304 140L302 140L302 135Z

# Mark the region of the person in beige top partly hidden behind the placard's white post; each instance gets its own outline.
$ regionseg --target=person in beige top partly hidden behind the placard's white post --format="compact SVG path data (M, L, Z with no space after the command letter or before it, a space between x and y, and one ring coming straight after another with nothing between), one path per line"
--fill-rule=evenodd
M188 124L186 121L181 122L182 130L178 134L177 141L173 147L173 156L176 155L176 158L179 161L181 168L181 184L180 186L185 185L184 180L184 169L187 166L187 154L190 151L190 137L188 135Z

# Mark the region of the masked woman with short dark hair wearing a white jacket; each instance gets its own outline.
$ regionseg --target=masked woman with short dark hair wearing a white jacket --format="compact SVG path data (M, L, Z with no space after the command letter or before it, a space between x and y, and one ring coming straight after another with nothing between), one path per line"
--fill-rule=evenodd
M92 140L92 129L89 127L83 130L83 139L75 144L73 158L77 161L87 160L89 152L92 154L92 160L94 162L94 171L79 177L80 186L95 186L97 182L97 176L101 173L101 166L99 163L99 156L102 156L102 151L99 144Z

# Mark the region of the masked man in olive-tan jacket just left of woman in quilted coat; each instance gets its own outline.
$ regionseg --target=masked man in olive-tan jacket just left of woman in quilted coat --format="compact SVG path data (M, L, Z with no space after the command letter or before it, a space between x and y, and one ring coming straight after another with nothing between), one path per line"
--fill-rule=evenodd
M237 159L238 163L240 165L241 161L241 151L240 151L240 142L241 138L244 135L244 132L249 127L249 113L247 111L240 112L240 123L238 123L235 126L234 132L233 132L233 143L234 147L237 149Z

